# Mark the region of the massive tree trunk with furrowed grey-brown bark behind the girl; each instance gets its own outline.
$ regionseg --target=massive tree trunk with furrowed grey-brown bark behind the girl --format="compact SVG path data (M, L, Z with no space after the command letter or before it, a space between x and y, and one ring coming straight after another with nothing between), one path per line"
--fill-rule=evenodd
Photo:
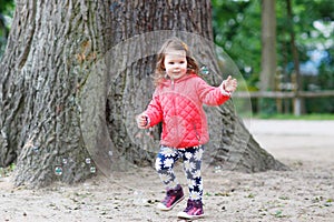
M0 167L16 162L17 185L41 186L151 164L159 128L138 130L134 119L154 91L156 52L171 36L184 39L210 70L205 79L219 84L210 18L208 0L18 1L1 63ZM223 71L236 70L224 63ZM233 101L207 114L206 163L284 168L254 141Z

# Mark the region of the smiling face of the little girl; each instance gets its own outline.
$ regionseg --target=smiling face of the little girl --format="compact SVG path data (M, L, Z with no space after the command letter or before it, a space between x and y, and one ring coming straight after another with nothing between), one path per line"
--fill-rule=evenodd
M168 51L165 54L164 65L170 79L179 79L187 73L186 51Z

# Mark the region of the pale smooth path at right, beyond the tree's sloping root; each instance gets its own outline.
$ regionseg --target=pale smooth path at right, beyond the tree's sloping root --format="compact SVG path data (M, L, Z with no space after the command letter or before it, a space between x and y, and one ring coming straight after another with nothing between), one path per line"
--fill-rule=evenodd
M245 120L245 123L275 158L334 162L334 121Z

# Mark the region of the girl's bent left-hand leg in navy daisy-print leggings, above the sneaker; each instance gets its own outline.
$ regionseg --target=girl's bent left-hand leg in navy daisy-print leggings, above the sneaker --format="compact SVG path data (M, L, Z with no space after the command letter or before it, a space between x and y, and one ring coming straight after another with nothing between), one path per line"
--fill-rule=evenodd
M174 163L178 158L179 154L176 149L164 145L161 145L160 152L157 155L156 170L167 190L176 189L179 184L173 170Z

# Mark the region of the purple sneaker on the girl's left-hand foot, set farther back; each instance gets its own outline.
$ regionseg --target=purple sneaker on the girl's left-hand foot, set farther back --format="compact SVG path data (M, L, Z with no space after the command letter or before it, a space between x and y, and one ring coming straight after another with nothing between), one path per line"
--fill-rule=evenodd
M176 189L167 190L165 200L158 203L157 209L161 211L171 210L177 203L185 199L183 188L178 184Z

